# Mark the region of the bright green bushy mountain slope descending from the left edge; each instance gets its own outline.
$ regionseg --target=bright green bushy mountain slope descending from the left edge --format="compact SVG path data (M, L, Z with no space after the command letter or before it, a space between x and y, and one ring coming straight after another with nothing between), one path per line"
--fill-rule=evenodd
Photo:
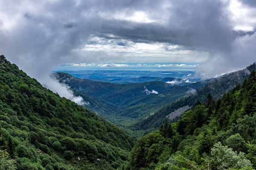
M133 145L124 130L0 56L1 168L9 161L18 170L114 170Z

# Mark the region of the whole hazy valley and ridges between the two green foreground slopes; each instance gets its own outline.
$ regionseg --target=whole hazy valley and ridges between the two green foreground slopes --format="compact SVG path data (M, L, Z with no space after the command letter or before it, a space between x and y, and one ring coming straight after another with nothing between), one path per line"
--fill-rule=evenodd
M149 82L118 84L76 78L67 73L54 73L53 76L68 85L74 94L82 96L86 107L119 127L144 133L157 129L166 120L166 116L175 110L186 105L192 106L197 101L204 102L207 94L217 99L237 83L243 82L249 75L248 71L255 68L253 64L242 71L198 82L151 77L147 78ZM151 82L151 79L158 81ZM166 83L174 80L181 82ZM182 113L184 111L176 113L172 119L177 119Z

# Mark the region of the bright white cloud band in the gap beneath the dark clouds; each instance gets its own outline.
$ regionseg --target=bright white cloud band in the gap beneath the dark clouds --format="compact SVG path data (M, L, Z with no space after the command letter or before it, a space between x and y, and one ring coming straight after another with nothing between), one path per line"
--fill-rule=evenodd
M205 51L186 49L182 45L168 42L133 42L131 40L111 37L108 39L91 34L87 43L78 49L84 51L105 51L110 56L118 56L128 62L204 62L208 57ZM194 58L192 58L193 56ZM182 66L182 65L177 65Z

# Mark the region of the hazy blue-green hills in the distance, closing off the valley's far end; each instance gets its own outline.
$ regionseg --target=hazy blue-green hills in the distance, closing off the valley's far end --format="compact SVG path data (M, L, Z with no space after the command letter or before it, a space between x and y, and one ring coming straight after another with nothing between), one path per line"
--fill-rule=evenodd
M139 119L149 116L157 108L183 97L204 83L186 83L178 85L154 81L143 83L117 84L79 79L67 73L54 73L59 82L68 85L76 95L87 101L87 107L102 116L124 119ZM146 79L143 77L142 79ZM166 78L174 80L174 78ZM90 98L91 97L91 98ZM104 110L102 109L103 106ZM133 121L134 122L134 121Z

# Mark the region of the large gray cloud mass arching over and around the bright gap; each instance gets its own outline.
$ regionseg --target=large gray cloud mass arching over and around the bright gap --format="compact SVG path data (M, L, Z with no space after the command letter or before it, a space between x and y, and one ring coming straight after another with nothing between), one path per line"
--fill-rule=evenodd
M243 2L254 5L253 0ZM255 59L254 32L233 30L228 5L223 0L0 0L0 53L46 82L58 64L125 60L105 51L81 50L86 43L99 43L88 41L91 35L120 46L127 45L123 40L165 42L208 52L198 71L211 77ZM132 20L136 11L143 11L148 21Z

